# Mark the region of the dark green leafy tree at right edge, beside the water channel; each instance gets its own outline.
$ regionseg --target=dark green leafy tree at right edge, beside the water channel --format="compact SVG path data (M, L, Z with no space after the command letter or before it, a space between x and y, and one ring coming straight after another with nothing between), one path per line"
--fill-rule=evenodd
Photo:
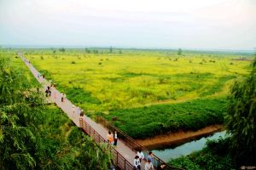
M256 57L250 75L240 82L235 82L230 92L225 124L231 135L231 153L237 166L255 166Z

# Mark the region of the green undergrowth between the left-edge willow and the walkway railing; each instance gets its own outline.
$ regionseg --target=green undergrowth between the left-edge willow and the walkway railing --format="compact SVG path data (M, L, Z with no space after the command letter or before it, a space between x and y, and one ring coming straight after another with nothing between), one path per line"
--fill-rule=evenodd
M85 136L54 105L47 107L43 119L34 132L39 169L108 169L111 156L107 145L99 146Z

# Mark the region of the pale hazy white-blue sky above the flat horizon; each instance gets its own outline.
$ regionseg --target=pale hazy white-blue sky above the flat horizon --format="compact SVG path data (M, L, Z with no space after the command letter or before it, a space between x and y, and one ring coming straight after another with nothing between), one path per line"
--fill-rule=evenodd
M256 48L256 0L0 0L0 44Z

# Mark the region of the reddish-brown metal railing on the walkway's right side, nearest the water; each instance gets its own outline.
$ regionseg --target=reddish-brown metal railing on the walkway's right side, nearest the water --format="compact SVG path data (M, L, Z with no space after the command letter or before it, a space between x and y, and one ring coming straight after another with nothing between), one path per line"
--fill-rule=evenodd
M118 127L113 126L111 122L108 122L102 116L97 116L96 121L100 122L103 126L107 127L111 131L116 130L118 133L119 139L122 139L123 141L125 141L125 144L128 147L130 147L132 150L135 150L135 151L142 150L145 158L149 155L149 150L147 148L143 147L141 144L138 144L135 139L132 139L129 135L121 131ZM154 167L159 167L162 163L165 163L165 161L162 161L158 156L154 156L152 163ZM183 170L183 168L172 167L169 164L166 164L166 169Z

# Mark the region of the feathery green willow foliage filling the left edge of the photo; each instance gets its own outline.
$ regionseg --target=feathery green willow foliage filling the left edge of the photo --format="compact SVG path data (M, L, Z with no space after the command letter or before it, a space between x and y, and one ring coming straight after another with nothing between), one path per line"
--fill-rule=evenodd
M44 105L23 75L0 56L0 169L36 166L32 127Z

